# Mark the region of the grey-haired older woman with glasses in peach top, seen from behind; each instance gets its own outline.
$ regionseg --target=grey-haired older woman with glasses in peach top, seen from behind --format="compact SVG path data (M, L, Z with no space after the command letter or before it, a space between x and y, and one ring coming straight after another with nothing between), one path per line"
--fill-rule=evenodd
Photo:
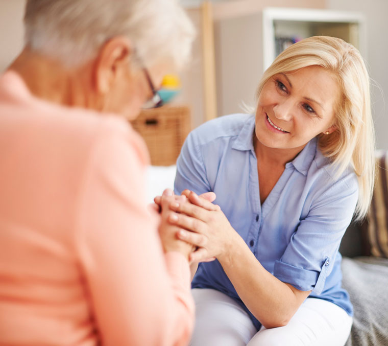
M175 0L29 0L25 25L0 76L0 344L186 344L192 246L165 214L160 242L146 147L107 112L160 104L191 23Z

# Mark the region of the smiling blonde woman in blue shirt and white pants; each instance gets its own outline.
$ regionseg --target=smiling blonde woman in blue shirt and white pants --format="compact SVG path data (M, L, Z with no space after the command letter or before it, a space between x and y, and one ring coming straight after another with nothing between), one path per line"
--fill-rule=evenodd
M344 345L338 247L374 180L365 64L343 40L311 37L275 59L257 97L255 116L200 126L178 159L176 193L191 203L171 203L169 221L199 247L192 261L216 258L192 281L191 344ZM221 211L197 197L207 191Z

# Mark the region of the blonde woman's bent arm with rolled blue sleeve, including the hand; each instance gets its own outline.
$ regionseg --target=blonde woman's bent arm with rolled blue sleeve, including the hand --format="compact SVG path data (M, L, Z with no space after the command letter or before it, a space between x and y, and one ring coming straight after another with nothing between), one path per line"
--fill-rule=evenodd
M196 198L190 196L193 203ZM286 325L312 290L322 291L332 268L325 263L334 262L356 201L357 189L345 189L341 183L329 187L301 221L283 257L276 261L274 274L262 267L222 212L172 204L180 214L171 222L195 232L183 232L180 238L195 245L201 242L201 256L215 256L249 310L264 327L273 328Z

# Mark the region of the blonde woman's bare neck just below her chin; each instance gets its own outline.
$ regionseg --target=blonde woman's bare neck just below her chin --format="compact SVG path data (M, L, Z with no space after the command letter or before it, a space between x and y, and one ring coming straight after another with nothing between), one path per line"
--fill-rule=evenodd
M256 136L254 137L254 147L258 162L265 163L272 167L285 167L286 163L292 161L306 145L291 149L270 148L261 144Z

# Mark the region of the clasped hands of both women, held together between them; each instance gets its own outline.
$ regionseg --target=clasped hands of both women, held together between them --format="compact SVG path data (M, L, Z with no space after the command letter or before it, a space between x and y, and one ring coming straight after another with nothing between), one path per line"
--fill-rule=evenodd
M228 255L237 233L220 206L212 203L215 197L213 192L198 196L189 190L178 196L169 189L155 197L165 251L181 252L190 263L220 260Z

